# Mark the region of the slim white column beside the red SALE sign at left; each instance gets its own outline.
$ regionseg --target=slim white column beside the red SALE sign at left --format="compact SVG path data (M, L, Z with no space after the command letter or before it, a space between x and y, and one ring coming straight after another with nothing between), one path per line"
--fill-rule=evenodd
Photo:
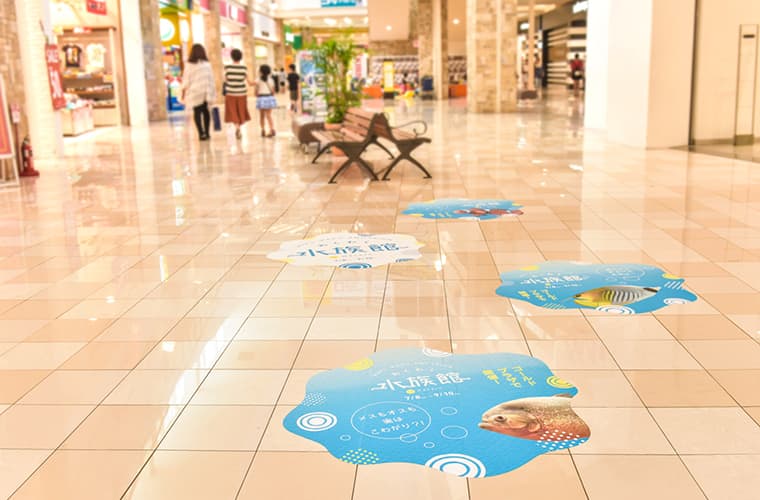
M14 57L3 56L3 59L23 62L25 100L20 104L25 107L34 154L39 158L54 158L63 154L63 131L61 113L53 111L50 99L45 35L40 30L40 21L50 26L50 1L16 0L15 4L19 50Z

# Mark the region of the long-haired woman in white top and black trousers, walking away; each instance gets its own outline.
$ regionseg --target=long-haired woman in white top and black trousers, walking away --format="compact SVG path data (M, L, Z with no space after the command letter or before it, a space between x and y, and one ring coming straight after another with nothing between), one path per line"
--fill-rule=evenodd
M213 104L215 95L214 72L206 57L206 49L196 43L190 50L190 57L182 74L182 100L187 107L193 109L193 119L201 141L207 141L211 137L211 115L208 106Z

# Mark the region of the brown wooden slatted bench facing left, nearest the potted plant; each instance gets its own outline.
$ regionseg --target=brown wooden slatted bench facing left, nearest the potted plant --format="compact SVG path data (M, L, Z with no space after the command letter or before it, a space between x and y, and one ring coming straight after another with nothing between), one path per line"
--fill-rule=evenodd
M378 136L372 132L375 128L375 123L382 117L381 113L351 108L346 113L345 120L340 125L340 129L312 131L312 135L320 144L319 151L314 156L312 163L316 163L320 156L332 148L343 151L347 157L346 161L330 178L330 184L334 184L335 179L353 163L364 169L372 180L378 180L375 171L372 170L372 167L361 155L369 146L374 144L383 149L393 159L393 155L388 148L378 142Z

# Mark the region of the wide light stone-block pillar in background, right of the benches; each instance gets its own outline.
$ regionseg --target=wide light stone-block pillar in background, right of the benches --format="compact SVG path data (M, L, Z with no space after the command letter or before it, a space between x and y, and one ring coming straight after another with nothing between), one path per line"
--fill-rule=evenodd
M467 0L467 108L517 107L517 0Z

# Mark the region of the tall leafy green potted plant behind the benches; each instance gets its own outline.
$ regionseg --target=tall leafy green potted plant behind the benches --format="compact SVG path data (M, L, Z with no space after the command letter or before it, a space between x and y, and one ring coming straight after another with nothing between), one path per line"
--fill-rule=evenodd
M321 94L327 104L326 122L341 123L349 108L361 104L361 88L352 86L349 77L359 52L348 35L324 40L311 51L315 68L324 76Z

